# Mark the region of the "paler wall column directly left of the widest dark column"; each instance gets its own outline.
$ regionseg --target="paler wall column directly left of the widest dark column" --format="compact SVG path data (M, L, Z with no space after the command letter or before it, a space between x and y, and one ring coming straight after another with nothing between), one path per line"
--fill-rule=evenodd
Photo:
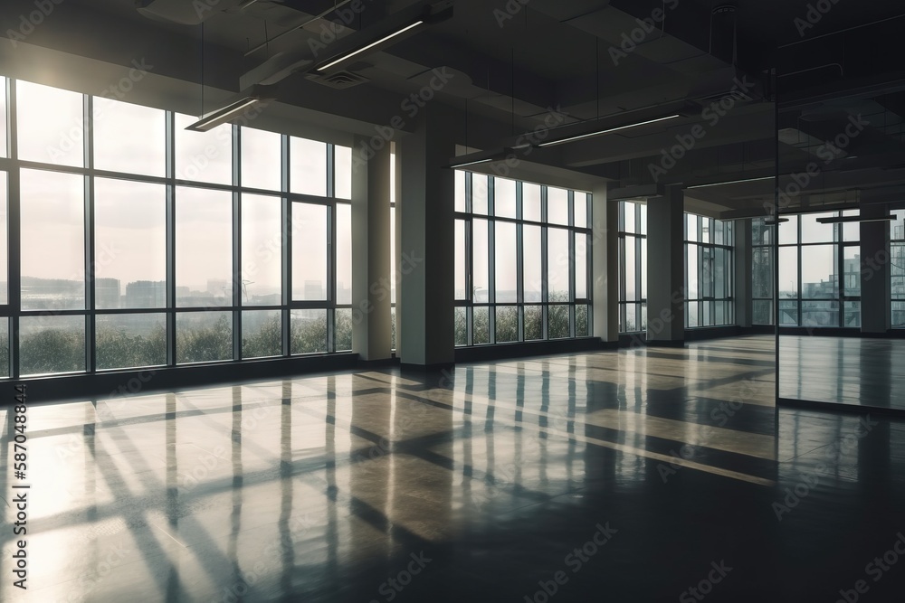
M353 148L369 142L356 137ZM365 361L390 357L389 144L352 170L352 350Z

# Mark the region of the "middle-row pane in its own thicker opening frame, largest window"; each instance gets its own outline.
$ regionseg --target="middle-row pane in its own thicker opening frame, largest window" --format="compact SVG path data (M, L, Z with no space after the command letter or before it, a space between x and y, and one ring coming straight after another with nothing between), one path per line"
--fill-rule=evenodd
M292 203L292 299L327 299L326 205Z

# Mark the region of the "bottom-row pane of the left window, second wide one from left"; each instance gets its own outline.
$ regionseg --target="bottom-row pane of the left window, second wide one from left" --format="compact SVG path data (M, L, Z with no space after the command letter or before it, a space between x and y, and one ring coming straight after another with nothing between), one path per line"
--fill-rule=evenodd
M98 369L167 363L167 315L100 314L95 323Z

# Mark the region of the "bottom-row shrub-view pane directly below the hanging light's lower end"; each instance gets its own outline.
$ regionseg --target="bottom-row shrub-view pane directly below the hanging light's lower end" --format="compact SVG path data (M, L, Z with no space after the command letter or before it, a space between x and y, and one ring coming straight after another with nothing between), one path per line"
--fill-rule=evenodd
M176 363L233 359L230 312L180 312L176 315Z

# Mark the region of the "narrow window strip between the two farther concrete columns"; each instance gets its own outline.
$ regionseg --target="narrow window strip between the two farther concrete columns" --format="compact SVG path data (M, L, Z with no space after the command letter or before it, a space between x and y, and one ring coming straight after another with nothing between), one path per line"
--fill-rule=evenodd
M647 330L647 205L619 203L619 331Z

